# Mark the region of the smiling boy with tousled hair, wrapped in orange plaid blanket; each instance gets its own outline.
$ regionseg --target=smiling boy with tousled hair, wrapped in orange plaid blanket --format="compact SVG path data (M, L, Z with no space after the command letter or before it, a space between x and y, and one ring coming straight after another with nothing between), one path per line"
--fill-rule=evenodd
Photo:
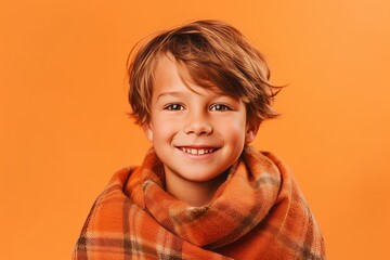
M289 170L248 145L278 89L237 29L198 21L157 35L129 79L153 148L113 177L74 259L325 259Z

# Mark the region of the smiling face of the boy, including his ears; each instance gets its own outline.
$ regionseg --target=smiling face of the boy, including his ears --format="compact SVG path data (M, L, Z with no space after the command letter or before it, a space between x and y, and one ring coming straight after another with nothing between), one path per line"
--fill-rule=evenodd
M221 92L181 80L173 57L162 55L155 69L151 122L144 131L164 162L167 177L206 182L232 166L257 129L246 123L245 104Z

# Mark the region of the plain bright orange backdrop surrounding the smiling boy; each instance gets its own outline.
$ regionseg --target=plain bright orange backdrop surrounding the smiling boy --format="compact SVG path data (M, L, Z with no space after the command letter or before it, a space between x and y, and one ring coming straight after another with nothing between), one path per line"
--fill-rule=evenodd
M197 18L235 25L289 83L255 145L294 170L328 259L389 259L389 14L387 0L0 0L1 259L70 258L95 197L150 146L126 116L129 50Z

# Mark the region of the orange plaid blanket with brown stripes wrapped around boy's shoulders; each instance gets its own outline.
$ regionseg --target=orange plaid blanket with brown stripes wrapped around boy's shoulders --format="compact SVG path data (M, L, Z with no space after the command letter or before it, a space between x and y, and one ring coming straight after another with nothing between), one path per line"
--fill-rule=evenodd
M193 207L164 190L153 150L98 197L73 259L325 259L313 214L286 166L245 147L212 202Z

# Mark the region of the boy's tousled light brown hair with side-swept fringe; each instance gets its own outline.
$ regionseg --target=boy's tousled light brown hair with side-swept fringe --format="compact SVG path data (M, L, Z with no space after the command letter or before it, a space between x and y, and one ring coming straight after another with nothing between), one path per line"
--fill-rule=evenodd
M151 120L154 70L164 54L171 54L178 68L185 67L197 86L218 87L242 100L251 126L277 116L271 103L281 87L270 83L262 54L230 24L197 21L164 31L141 47L130 62L133 50L128 60L130 115L141 126Z

